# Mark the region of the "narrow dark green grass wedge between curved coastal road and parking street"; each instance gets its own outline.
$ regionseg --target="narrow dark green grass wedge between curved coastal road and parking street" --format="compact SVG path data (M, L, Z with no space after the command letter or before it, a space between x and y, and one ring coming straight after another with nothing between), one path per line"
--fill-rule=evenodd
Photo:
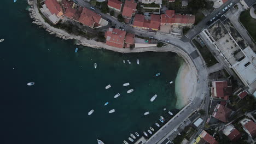
M212 55L211 51L208 50L206 46L202 47L195 39L193 39L192 42L201 53L203 59L205 59L207 67L211 67L212 65L218 63L216 58Z

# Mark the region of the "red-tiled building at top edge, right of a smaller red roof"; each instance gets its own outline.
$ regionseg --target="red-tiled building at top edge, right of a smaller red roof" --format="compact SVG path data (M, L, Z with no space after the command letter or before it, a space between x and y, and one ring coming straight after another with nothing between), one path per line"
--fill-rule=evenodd
M131 19L132 15L136 12L137 3L134 0L126 0L123 8L123 17Z

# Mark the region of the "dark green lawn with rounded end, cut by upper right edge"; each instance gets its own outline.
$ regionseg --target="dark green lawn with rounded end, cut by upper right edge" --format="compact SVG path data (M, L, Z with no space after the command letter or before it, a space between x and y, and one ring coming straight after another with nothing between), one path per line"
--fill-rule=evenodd
M254 41L256 41L256 19L253 19L250 15L250 9L243 11L239 17L240 22L247 29L248 33L252 36Z

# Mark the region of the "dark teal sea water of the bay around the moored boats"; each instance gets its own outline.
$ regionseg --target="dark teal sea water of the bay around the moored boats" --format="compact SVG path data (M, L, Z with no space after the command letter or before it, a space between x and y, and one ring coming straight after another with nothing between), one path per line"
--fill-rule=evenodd
M0 4L0 39L5 39L0 43L1 143L122 143L135 131L156 130L159 116L170 119L164 107L178 111L175 83L168 84L180 67L175 53L75 46L34 25L26 8L25 0ZM123 87L125 82L130 86ZM105 89L108 84L112 87ZM134 92L127 94L130 88ZM150 102L154 94L158 97ZM88 116L91 109L95 112ZM116 112L108 113L111 109ZM144 116L146 111L150 114Z

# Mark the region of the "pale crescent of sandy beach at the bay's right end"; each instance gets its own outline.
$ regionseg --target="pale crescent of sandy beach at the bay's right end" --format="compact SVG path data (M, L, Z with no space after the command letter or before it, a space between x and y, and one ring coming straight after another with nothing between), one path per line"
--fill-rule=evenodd
M177 77L175 79L175 93L177 95L176 108L182 109L187 105L191 99L193 92L194 81L192 71L187 63L183 62L182 66L178 70Z

